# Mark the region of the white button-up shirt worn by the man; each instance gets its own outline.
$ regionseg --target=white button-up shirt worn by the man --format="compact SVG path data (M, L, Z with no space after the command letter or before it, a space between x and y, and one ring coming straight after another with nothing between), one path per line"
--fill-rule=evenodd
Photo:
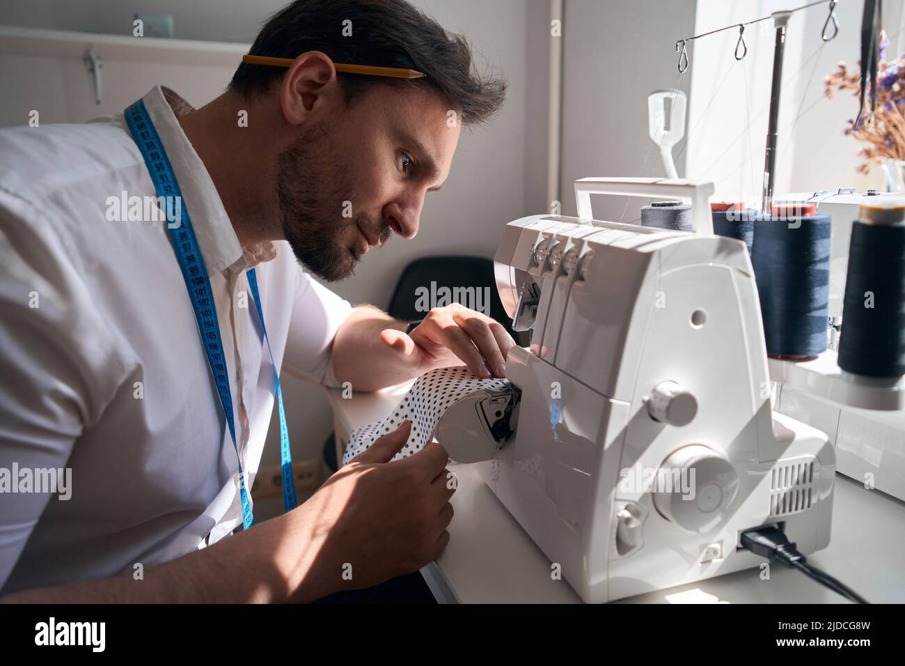
M191 107L159 86L144 101L204 256L253 481L274 381L245 269L265 260L274 362L312 381L336 384L332 341L352 307L285 242L240 247L176 121ZM0 470L71 468L68 500L0 494L3 592L131 574L241 524L236 453L167 222L109 221L123 190L156 196L122 114L0 130Z

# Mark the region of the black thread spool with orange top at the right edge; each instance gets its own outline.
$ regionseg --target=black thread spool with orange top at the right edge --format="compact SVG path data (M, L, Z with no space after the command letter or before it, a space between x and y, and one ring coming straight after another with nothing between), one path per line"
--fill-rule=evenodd
M862 206L852 225L839 367L866 377L905 374L905 208Z

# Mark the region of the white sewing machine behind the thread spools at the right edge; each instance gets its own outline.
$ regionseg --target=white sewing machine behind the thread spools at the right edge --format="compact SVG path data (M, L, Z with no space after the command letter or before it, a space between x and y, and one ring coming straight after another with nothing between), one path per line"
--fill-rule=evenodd
M776 200L814 203L817 213L833 217L830 258L829 349L810 365L835 365L838 327L842 322L845 275L852 223L859 208L873 200L895 200L905 205L905 194L857 193L853 188L837 192L798 192ZM780 362L770 361L771 374L782 371ZM776 368L772 367L776 364ZM795 368L786 366L786 371ZM823 430L836 450L838 470L847 477L905 500L905 386L892 383L892 390L834 391L817 375L793 376L776 387L776 411ZM800 374L800 373L799 373ZM779 379L779 378L776 378ZM890 382L887 382L890 383ZM838 382L836 382L838 389ZM849 388L851 385L847 386ZM889 387L887 387L889 388ZM870 391L870 388L868 388ZM865 409L870 408L870 409Z

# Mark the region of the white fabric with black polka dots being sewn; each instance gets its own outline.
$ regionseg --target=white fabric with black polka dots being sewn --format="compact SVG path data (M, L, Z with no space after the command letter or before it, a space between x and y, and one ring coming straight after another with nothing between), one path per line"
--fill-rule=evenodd
M394 460L411 456L433 441L433 429L452 405L481 389L499 391L509 386L503 379L481 379L468 368L440 368L419 377L402 401L385 420L372 423L352 432L342 464L366 450L377 439L399 427L404 420L412 421L412 432Z

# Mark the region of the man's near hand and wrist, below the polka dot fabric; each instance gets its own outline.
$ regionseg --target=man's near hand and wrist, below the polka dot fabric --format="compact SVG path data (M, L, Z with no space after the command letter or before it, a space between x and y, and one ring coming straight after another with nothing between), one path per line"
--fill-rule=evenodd
M377 439L301 507L274 519L287 524L286 537L297 530L310 536L308 543L287 538L281 548L293 600L369 587L417 571L443 553L455 492L449 457L434 443L390 462L411 427L405 421Z

